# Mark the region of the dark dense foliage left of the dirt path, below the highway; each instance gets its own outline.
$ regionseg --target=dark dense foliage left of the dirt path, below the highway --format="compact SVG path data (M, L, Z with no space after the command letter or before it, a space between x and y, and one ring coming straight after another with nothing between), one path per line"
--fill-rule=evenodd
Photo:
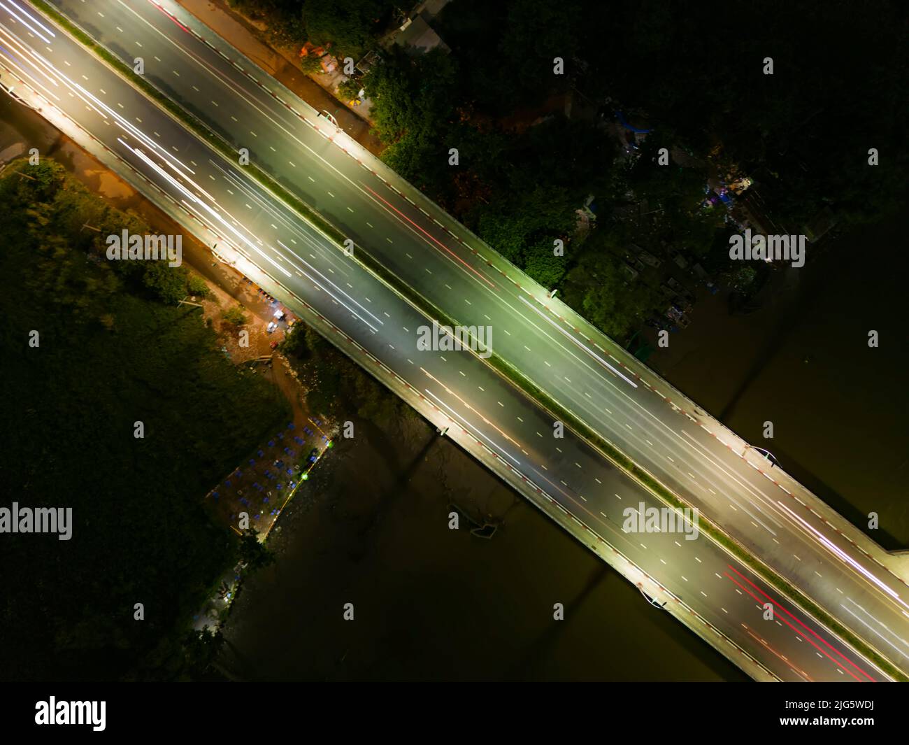
M180 669L181 624L239 556L202 498L287 416L198 308L161 302L172 281L185 295L185 274L95 250L123 227L148 230L51 161L0 178L0 272L15 278L0 296L2 506L70 507L74 520L68 541L0 539L5 679L116 679L168 640Z

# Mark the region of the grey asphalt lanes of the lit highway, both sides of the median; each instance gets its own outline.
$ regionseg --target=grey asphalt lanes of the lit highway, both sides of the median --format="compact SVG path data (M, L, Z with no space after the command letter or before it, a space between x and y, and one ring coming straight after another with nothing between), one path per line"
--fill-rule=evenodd
M817 528L794 512L783 492L768 493L766 478L667 405L654 393L661 382L645 367L634 367L634 360L619 348L604 351L588 345L477 258L484 248L451 218L433 215L455 235L461 230L464 242L474 245L478 254L326 139L325 134L335 133L324 120L310 117L307 124L276 104L155 5L138 2L127 7L114 1L58 5L115 52L132 60L141 50L149 79L175 100L194 107L230 140L244 141L256 163L330 216L358 246L367 247L426 297L446 308L463 301L464 307L452 315L465 324L493 327L497 354L531 369L531 377L694 506L709 504L704 511L711 515L724 506L733 514L747 515L749 527L741 538L758 555L774 564L797 551L793 567L803 574L814 568L821 575L797 584L830 612L849 619L848 625L888 657L903 661L909 645L903 639L902 599L854 568L851 562L861 557L852 556L850 545L814 534ZM417 350L416 329L427 323L425 317L330 247L241 169L188 135L95 57L26 8L0 0L0 61L5 66L424 392L454 425L468 428L511 468L658 579L674 596L672 602L684 602L784 680L884 679L873 665L801 613L779 607L775 619L764 620L760 603L775 599L775 594L709 540L687 541L673 533L624 534L624 508L660 503L570 432L554 438L552 418L482 360L464 351ZM118 30L127 28L128 34ZM115 35L120 35L118 41ZM127 45L135 46L135 51L127 52ZM265 81L259 71L255 76ZM272 81L268 85L279 89ZM288 96L282 92L285 100ZM305 106L298 106L308 116ZM246 128L248 142L241 135ZM345 144L348 150L352 145ZM403 183L395 186L405 191ZM418 196L408 196L417 202ZM427 212L432 209L428 204L423 207ZM624 366L633 367L638 375ZM650 381L649 387L641 378ZM721 521L736 535L737 522L731 521L730 527ZM771 543L773 548L754 538L764 531L778 541ZM834 556L834 549L844 556ZM894 594L902 590L894 579L878 576L879 568L862 569L878 581L894 583L898 588Z

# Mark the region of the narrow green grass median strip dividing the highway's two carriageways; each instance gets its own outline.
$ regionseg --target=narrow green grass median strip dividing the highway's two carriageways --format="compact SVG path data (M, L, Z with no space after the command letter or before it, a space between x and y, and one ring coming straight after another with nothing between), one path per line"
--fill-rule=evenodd
M63 26L71 35L75 36L83 45L95 52L96 55L104 59L109 65L113 66L122 76L125 76L125 78L134 83L135 86L139 87L147 96L163 106L168 112L183 122L185 126L188 126L197 136L200 136L205 142L209 143L215 150L228 159L232 161L235 160L235 148L231 147L224 139L216 135L196 116L187 112L182 106L175 104L171 99L155 88L155 86L152 86L145 80L144 77L136 75L129 65L125 65L124 62L108 52L104 47L96 44L94 39L86 35L85 32L71 23L65 16L61 15L54 7L45 3L44 0L32 0L32 2L37 7L41 8L46 15L52 17L57 24ZM250 165L245 167L247 172L254 176L262 186L265 186L265 188L273 192L275 196L283 199L288 205L293 206L300 215L304 216L312 225L321 230L326 237L333 240L339 249L343 246L345 234L336 228L330 221L326 220L324 216L317 213L311 206L306 205L301 199L287 191L284 186L278 184L272 176L265 173L265 171L258 166ZM412 287L407 286L392 272L385 269L385 267L378 262L375 257L370 256L365 249L360 247L357 248L358 250L355 249L354 252L355 260L371 270L389 287L395 289L395 291L411 303L411 305L423 311L425 315L437 319L440 324L452 327L458 325L453 318L447 317L440 308L435 307L433 303L415 292ZM554 414L556 418L559 418L570 428L574 429L575 434L586 439L593 444L594 447L598 448L606 458L609 458L614 463L615 466L622 468L629 476L644 484L644 486L654 492L655 495L664 499L667 504L674 508L688 507L688 505L686 505L681 498L676 496L672 490L666 488L646 470L637 466L630 458L627 458L624 453L595 432L593 428L586 425L582 419L577 418L571 411L564 408L542 388L539 388L531 380L525 378L524 375L519 373L514 367L504 361L504 359L493 354L486 362L494 367L494 369L496 369L504 378L514 383L518 388L521 388L530 398L533 398L551 414ZM730 538L722 529L719 529L713 523L704 520L703 517L701 518L701 524L701 529L733 554L736 559L739 559L746 566L753 569L755 574L761 579L764 579L764 581L774 589L778 590L789 599L792 599L802 609L814 616L815 619L820 620L824 626L831 629L834 634L841 639L847 641L854 649L864 655L864 657L874 661L874 664L894 677L894 679L909 681L909 677L906 677L899 669L896 669L894 665L872 649L863 639L855 636L851 630L846 629L839 621L815 604L814 601L808 599L800 590L795 589L793 585L786 582L772 569L766 567L763 562L755 559L751 553L744 549L737 541Z

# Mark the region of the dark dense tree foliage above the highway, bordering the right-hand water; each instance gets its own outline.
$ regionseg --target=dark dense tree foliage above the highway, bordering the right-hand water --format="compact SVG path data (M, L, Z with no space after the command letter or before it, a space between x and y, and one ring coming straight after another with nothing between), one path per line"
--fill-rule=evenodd
M711 174L753 176L792 232L822 210L845 224L901 205L899 4L456 0L433 25L450 54L393 49L365 77L385 162L614 336L665 305L623 277L633 244L717 267L730 228L701 206ZM606 128L618 106L653 130L632 158ZM658 148L692 157L657 166ZM569 245L587 196L597 228Z

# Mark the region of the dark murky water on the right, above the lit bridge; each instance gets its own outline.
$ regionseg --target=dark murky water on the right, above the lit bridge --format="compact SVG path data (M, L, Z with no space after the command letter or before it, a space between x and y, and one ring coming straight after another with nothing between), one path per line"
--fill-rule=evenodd
M649 360L892 550L909 548L904 245L894 217L844 234L820 256L809 246L805 266L778 277L761 310L730 317L725 297L704 298L691 326ZM870 512L877 530L868 529Z

